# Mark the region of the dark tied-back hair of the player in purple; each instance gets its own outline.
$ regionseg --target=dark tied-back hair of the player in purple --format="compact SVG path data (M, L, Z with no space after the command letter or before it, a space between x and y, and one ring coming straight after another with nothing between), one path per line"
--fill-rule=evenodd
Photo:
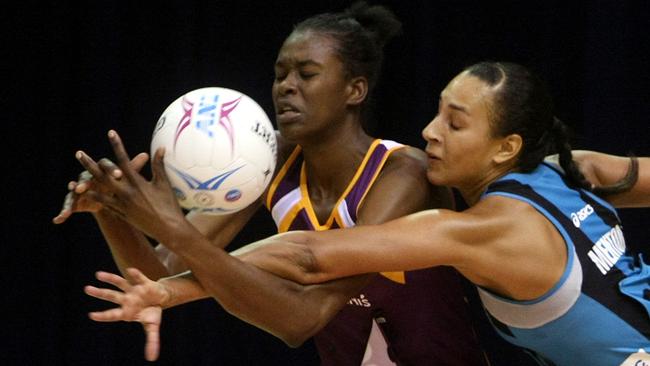
M312 31L336 41L335 51L343 62L348 78L363 76L368 80L368 96L362 104L363 124L368 130L367 113L372 91L377 85L383 63L383 48L400 33L402 23L384 6L365 1L352 4L340 13L323 13L298 23L293 32Z

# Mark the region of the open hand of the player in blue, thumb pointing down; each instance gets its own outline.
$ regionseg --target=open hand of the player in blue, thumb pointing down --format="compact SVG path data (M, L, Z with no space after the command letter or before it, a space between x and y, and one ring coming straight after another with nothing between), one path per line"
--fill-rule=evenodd
M160 324L162 306L170 294L160 283L147 278L135 268L128 268L129 280L108 272L97 272L96 277L122 291L86 286L86 294L119 305L104 311L89 313L92 320L98 322L139 322L144 327L146 343L144 356L148 361L155 361L160 354Z

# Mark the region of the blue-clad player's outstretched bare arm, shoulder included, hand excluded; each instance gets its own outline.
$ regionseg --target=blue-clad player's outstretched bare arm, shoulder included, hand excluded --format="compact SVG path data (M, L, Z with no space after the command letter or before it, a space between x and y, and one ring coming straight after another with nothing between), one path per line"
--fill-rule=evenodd
M526 243L526 245L521 245ZM297 231L241 249L300 283L359 273L453 266L473 283L511 298L544 294L563 273L566 246L525 202L489 197L463 211L428 210L379 225Z

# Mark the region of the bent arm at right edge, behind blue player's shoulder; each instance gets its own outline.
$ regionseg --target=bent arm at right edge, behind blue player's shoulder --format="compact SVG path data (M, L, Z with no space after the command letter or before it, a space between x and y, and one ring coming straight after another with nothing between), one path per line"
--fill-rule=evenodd
M629 179L632 169L630 157L616 156L596 151L573 151L582 174L595 187L614 186ZM616 207L650 206L650 157L638 157L638 178L622 192L607 195L605 199Z

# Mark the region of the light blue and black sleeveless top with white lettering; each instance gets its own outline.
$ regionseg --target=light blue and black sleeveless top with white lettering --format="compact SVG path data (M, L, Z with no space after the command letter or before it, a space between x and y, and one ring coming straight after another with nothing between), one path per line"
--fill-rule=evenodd
M497 332L543 365L650 365L650 268L626 251L614 208L571 188L547 163L505 175L482 198L492 195L533 206L567 250L562 277L538 299L515 301L479 288Z

